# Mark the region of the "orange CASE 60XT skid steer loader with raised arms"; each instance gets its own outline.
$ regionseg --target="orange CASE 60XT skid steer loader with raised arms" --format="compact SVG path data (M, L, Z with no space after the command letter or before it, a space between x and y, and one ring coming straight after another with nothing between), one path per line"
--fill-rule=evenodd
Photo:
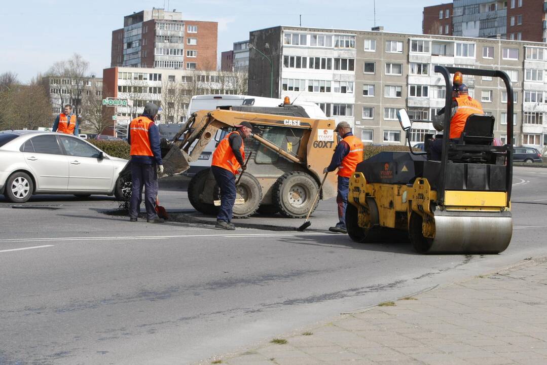
M167 176L188 169L188 163L199 158L202 150L214 139L217 130L230 131L242 121L253 125L246 138L245 155L252 152L247 169L237 186L234 217L246 218L259 211L280 212L290 218L305 217L318 200L323 168L329 164L336 147L335 121L306 118L300 106L280 105L272 108L234 107L228 110L198 111L165 147L164 169ZM257 110L259 112L257 112ZM275 114L274 114L275 113ZM218 141L217 141L218 142ZM320 197L336 195L336 177L327 178ZM188 198L192 206L213 215L220 198L211 169L202 170L191 179Z

